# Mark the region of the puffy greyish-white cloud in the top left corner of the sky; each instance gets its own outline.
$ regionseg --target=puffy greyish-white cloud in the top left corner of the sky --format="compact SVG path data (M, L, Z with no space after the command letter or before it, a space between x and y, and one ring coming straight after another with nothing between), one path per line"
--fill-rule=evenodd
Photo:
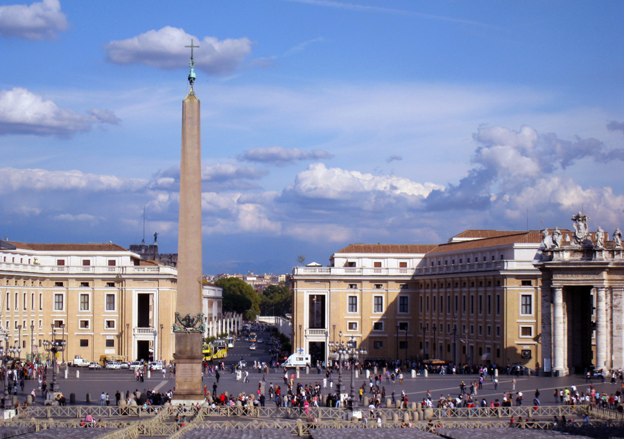
M0 35L25 39L51 39L67 29L59 0L26 5L0 6Z

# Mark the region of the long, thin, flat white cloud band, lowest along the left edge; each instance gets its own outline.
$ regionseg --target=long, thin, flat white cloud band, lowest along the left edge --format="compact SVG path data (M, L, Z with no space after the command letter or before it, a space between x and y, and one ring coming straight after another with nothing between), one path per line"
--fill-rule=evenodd
M0 189L3 191L80 190L86 192L136 191L147 181L114 175L84 174L78 170L49 171L44 169L0 168Z

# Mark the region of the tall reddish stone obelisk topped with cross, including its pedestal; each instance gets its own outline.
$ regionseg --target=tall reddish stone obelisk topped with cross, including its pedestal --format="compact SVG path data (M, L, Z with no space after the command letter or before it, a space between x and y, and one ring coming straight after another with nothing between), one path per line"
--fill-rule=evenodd
M193 91L182 101L182 154L180 159L180 220L177 238L177 301L175 334L175 393L173 404L203 401L202 393L202 175L200 102Z

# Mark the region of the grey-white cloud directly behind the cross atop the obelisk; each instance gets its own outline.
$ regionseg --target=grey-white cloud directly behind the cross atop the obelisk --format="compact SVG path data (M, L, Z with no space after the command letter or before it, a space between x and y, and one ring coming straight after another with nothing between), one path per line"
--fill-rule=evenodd
M112 41L104 49L107 60L114 64L145 64L157 69L180 69L189 62L191 39L199 48L194 49L196 68L211 75L227 75L239 69L245 57L251 53L252 42L238 39L199 39L180 28L165 26L149 30L136 37Z

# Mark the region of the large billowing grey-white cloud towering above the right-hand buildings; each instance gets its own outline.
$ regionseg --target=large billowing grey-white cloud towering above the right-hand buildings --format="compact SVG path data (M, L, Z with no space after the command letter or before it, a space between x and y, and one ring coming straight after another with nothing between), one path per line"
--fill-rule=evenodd
M433 191L426 200L429 209L487 208L492 201L509 199L582 159L596 163L624 160L622 148L609 148L596 138L566 141L528 126L518 131L481 127L473 138L478 147L472 168L457 185Z

